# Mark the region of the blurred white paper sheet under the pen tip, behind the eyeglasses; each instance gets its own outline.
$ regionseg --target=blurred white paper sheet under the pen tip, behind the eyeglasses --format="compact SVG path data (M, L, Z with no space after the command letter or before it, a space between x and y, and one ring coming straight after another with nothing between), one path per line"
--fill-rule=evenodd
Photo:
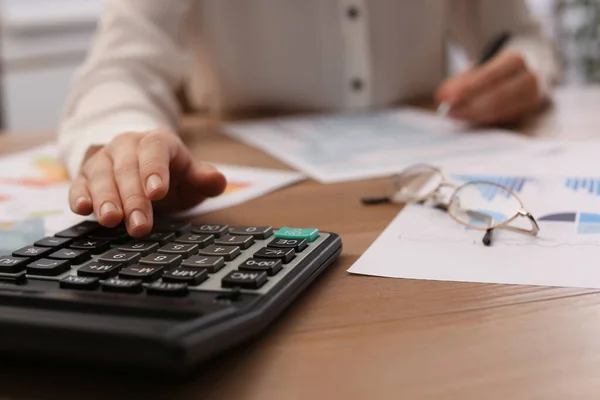
M225 133L324 183L390 175L415 163L484 165L552 145L510 131L467 131L412 108L243 121L227 124Z

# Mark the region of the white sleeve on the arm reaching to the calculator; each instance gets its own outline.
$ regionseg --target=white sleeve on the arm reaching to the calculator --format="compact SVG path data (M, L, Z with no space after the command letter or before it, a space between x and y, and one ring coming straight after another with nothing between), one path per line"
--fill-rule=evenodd
M71 177L90 146L124 132L176 129L175 91L188 66L184 18L192 0L106 0L58 127Z

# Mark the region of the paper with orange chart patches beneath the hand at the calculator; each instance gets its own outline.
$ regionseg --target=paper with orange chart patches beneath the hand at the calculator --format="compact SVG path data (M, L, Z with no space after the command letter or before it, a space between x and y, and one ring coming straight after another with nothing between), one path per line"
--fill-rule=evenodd
M216 165L228 180L221 196L181 213L191 217L231 207L304 179L297 172ZM0 159L0 253L31 244L93 216L74 214L69 180L54 145Z

